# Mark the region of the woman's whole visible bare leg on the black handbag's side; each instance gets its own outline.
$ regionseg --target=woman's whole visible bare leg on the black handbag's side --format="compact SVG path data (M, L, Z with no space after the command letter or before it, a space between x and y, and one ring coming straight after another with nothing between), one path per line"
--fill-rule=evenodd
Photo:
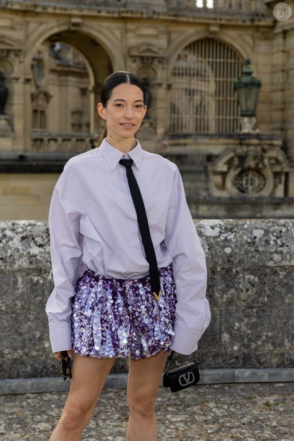
M155 400L167 353L130 360L128 403L130 409L127 441L157 441Z

